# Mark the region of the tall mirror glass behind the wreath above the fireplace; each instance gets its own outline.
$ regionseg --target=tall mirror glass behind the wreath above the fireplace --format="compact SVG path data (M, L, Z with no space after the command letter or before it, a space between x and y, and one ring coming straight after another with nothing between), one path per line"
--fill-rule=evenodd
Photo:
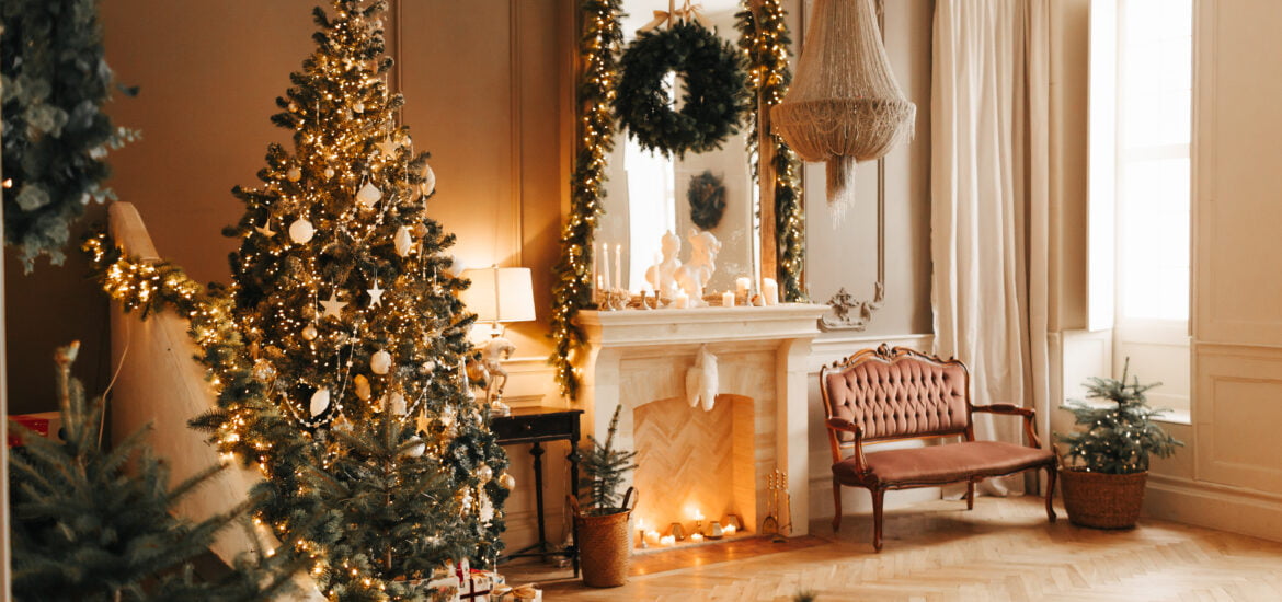
M677 3L681 6L681 3ZM722 40L736 44L740 33L735 14L740 0L701 0L704 22ZM623 47L637 37L637 29L654 19L655 10L668 10L668 0L624 0ZM660 26L665 27L665 26ZM668 90L681 96L679 76L670 73ZM679 101L674 101L679 102ZM676 106L679 110L679 106ZM608 245L612 254L622 245L622 286L640 291L646 269L662 252L664 233L674 233L682 243L679 257L691 254L691 229L712 232L720 242L717 270L705 292L735 288L738 277L756 278L760 257L760 228L756 222L758 186L749 155L747 119L741 122L719 150L686 154L683 158L646 151L615 122L614 150L606 159L605 200L596 232L596 248ZM613 261L613 255L610 261ZM612 265L613 268L613 265Z

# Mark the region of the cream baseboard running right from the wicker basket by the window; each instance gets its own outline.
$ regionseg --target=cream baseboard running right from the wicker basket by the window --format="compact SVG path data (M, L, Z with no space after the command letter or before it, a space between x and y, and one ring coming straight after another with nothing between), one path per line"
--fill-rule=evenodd
M1144 511L1155 519L1282 542L1282 496L1150 473Z

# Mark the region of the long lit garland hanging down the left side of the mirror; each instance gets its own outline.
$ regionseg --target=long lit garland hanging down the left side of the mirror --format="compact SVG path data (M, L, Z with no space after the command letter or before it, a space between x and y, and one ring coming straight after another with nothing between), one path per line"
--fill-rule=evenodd
M614 147L610 101L615 95L618 65L614 51L623 42L620 0L583 0L579 31L578 143L570 177L569 218L562 228L562 256L553 268L553 355L556 382L564 397L578 395L576 355L583 348L583 330L574 324L579 310L592 307L592 234L604 213L605 156Z

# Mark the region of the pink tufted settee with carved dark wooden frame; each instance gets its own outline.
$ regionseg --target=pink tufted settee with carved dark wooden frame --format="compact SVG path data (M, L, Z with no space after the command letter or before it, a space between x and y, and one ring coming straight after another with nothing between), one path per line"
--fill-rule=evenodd
M841 528L841 485L872 493L873 548L881 551L887 489L964 482L969 510L979 480L1035 469L1046 470L1046 516L1055 520L1055 455L1037 442L1033 410L1010 403L970 405L970 374L960 361L882 345L824 366L819 391L832 444L833 530ZM1023 416L1028 446L974 441L973 412ZM962 441L864 453L868 443L955 437ZM846 450L850 455L842 457Z

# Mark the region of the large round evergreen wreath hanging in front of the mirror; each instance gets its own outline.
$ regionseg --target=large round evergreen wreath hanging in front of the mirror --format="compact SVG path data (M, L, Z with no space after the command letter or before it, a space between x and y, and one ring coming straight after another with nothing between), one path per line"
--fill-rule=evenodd
M628 134L664 156L719 149L738 132L749 109L741 56L708 28L691 22L637 37L619 60L614 111ZM685 81L681 111L669 106L664 77Z

